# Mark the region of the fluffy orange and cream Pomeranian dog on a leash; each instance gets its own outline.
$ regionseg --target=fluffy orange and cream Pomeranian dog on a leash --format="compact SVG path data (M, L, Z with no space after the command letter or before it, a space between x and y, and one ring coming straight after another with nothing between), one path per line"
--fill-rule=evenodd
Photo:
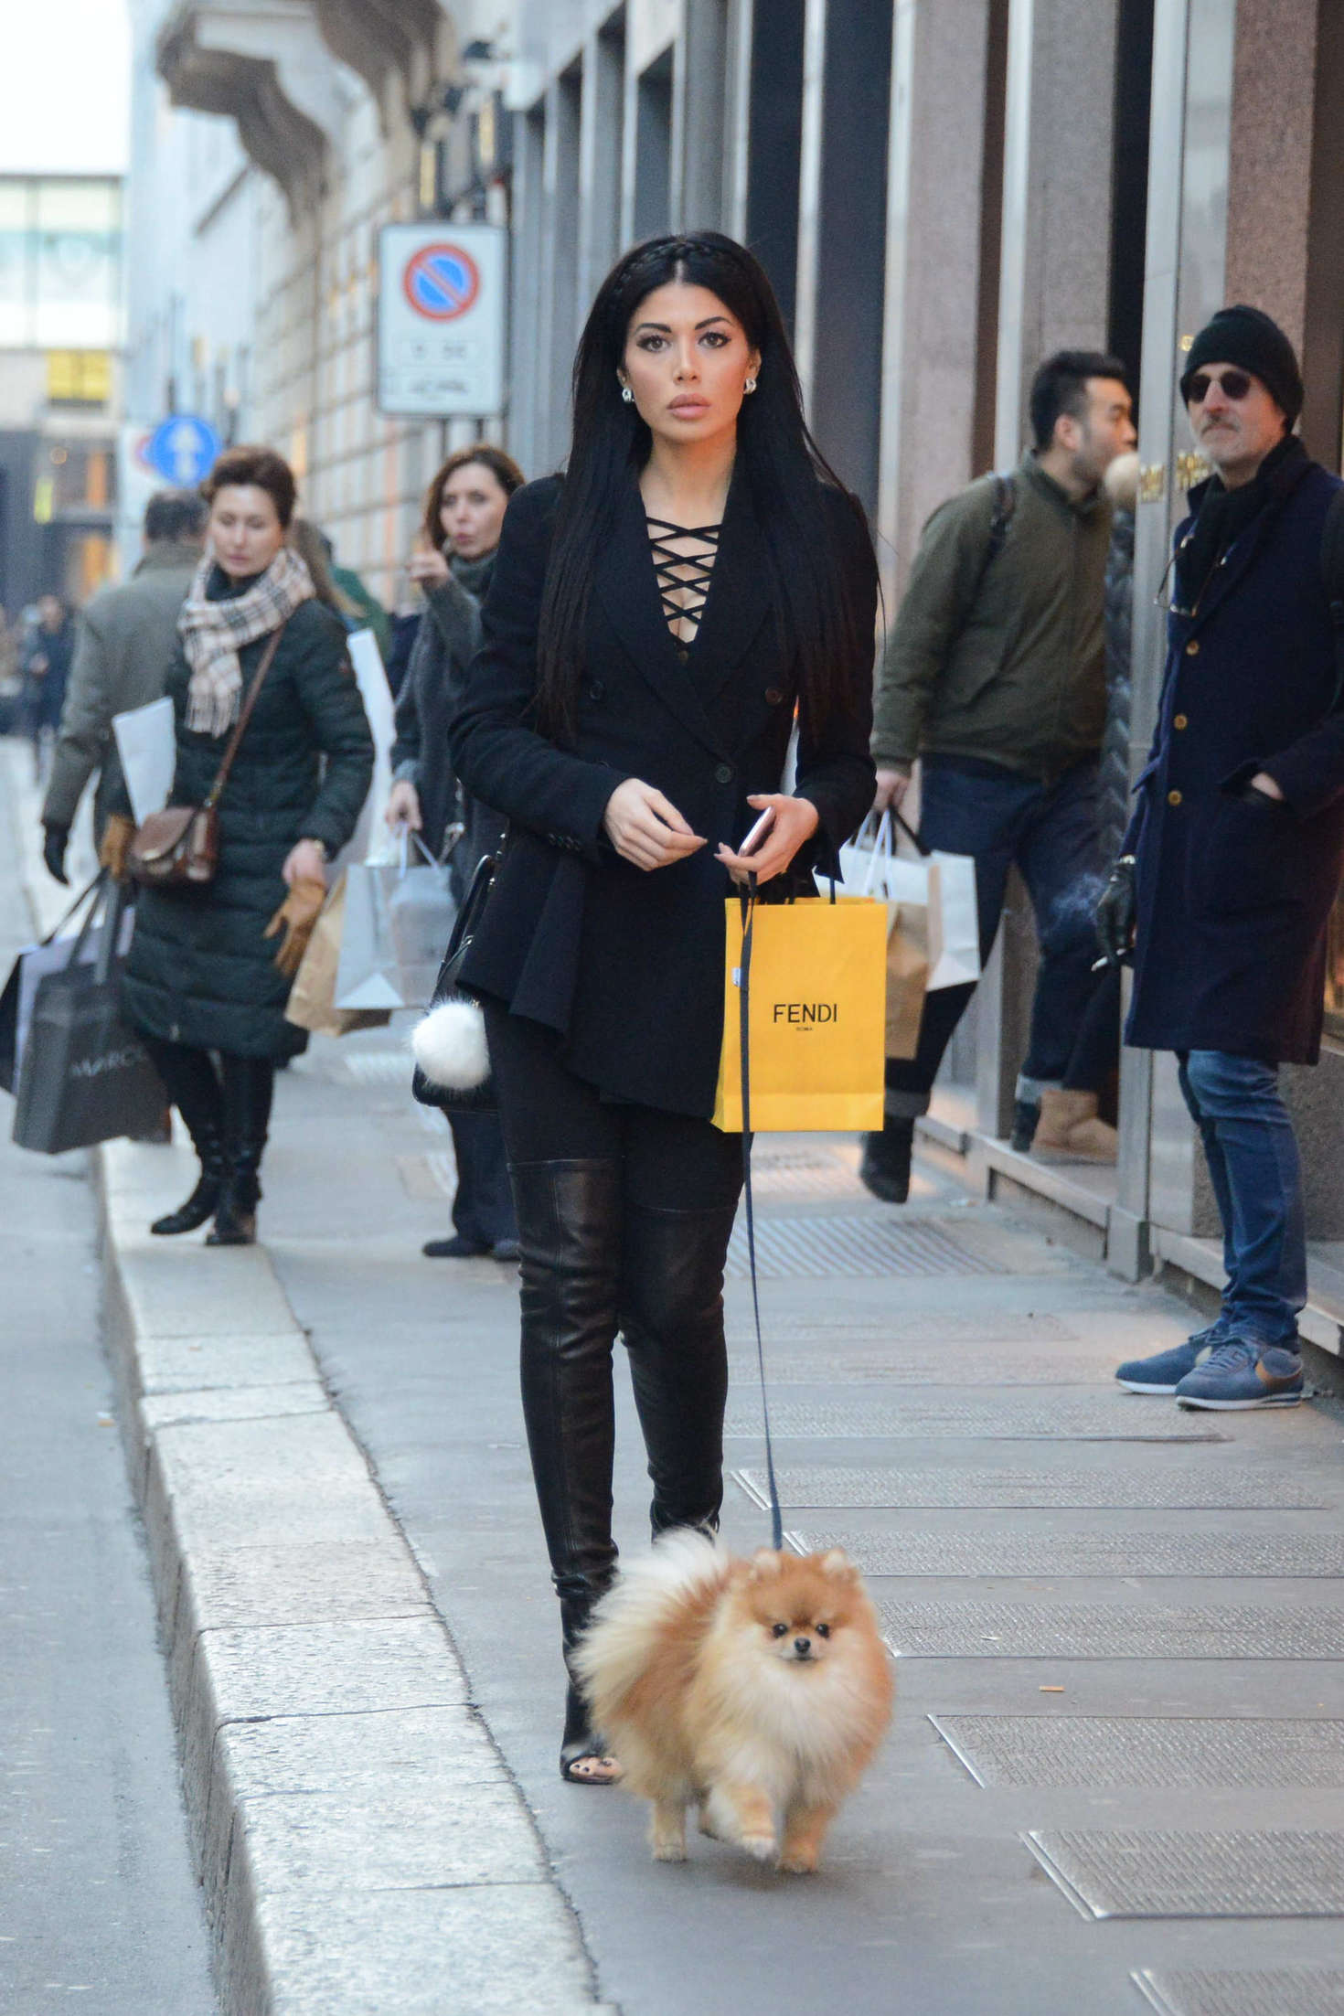
M663 1534L600 1599L576 1655L592 1726L653 1802L659 1863L701 1833L816 1869L826 1831L891 1722L891 1659L838 1550L737 1558Z

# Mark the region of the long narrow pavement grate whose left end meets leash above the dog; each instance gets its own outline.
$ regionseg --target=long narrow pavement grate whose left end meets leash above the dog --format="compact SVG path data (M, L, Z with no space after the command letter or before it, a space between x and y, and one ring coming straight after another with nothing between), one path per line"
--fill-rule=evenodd
M764 1470L733 1470L733 1482L758 1506L770 1506ZM858 1506L1070 1506L1074 1510L1153 1512L1304 1512L1320 1508L1320 1490L1278 1472L1151 1464L1106 1470L830 1470L800 1464L776 1472L780 1504L848 1510Z

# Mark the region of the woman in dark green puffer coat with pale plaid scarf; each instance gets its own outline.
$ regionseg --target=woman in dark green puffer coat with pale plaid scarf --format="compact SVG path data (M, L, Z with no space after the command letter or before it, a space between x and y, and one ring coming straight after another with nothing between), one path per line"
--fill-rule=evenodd
M306 1044L284 1004L322 907L324 863L353 835L369 790L373 736L341 619L284 542L288 464L268 448L232 448L206 496L212 550L177 619L167 677L171 804L208 794L242 698L280 637L220 800L216 877L139 893L123 998L201 1159L187 1202L151 1230L193 1232L214 1216L208 1244L240 1246L256 1238L276 1060ZM125 845L119 825L113 851Z

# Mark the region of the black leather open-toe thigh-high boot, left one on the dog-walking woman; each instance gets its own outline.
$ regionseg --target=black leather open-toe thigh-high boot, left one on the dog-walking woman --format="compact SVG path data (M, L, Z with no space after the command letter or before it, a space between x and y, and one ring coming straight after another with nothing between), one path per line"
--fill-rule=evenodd
M615 1403L611 1353L621 1270L617 1161L512 1163L522 1272L522 1413L536 1500L560 1597L566 1665L617 1564L611 1538ZM570 1679L560 1774L594 1756ZM578 1776L602 1784L604 1778Z

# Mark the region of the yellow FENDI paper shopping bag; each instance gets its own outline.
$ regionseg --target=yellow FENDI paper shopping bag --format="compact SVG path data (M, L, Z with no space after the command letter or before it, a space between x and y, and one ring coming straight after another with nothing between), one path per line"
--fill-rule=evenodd
M883 1125L887 903L750 905L750 1107L756 1133ZM713 1125L742 1129L744 903L727 901L723 1050Z

